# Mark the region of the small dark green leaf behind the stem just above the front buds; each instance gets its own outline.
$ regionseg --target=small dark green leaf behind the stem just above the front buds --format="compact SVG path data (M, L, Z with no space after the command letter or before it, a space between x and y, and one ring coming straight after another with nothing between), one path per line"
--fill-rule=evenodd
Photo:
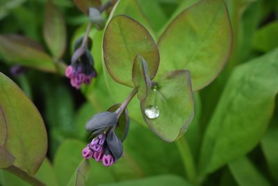
M119 107L119 104L114 104L112 107L108 109L108 111L116 111ZM124 109L124 112L121 114L120 118L117 121L117 126L115 127L115 134L121 141L126 139L127 133L129 132L129 111Z

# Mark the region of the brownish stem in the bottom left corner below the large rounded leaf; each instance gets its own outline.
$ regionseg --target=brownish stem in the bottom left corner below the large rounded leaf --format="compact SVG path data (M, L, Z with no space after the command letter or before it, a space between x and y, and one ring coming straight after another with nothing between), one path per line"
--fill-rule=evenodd
M17 166L11 165L8 168L6 168L7 171L10 171L11 173L15 174L19 178L22 178L22 180L25 180L26 182L30 183L31 185L35 186L46 186L44 183L42 183L37 178L29 175L25 171L22 171L22 169L19 169Z

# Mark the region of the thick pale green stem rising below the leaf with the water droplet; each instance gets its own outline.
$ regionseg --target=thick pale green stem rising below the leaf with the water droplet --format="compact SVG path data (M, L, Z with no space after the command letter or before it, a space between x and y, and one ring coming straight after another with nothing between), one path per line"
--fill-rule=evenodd
M181 153L181 160L183 161L183 167L186 171L187 180L193 185L198 185L197 181L197 171L191 153L190 147L184 137L181 137L176 141L177 147L179 148L179 153Z

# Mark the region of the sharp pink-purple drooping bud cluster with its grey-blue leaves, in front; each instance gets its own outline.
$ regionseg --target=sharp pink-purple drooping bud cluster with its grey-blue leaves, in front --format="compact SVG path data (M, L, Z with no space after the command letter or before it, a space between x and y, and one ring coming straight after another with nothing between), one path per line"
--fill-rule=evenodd
M115 134L116 125L117 114L110 111L96 114L86 123L86 130L92 132L94 138L83 149L82 155L85 159L92 157L104 166L111 166L122 157L122 141Z

